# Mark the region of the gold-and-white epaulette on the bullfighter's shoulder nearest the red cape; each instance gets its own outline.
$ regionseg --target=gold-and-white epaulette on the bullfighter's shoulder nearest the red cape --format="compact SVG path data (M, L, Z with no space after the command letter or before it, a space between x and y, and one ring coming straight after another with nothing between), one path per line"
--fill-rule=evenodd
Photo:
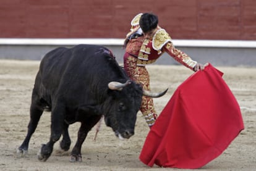
M171 42L171 36L169 36L169 34L163 28L161 28L160 30L157 30L155 35L153 36L153 49L159 51L168 42Z

